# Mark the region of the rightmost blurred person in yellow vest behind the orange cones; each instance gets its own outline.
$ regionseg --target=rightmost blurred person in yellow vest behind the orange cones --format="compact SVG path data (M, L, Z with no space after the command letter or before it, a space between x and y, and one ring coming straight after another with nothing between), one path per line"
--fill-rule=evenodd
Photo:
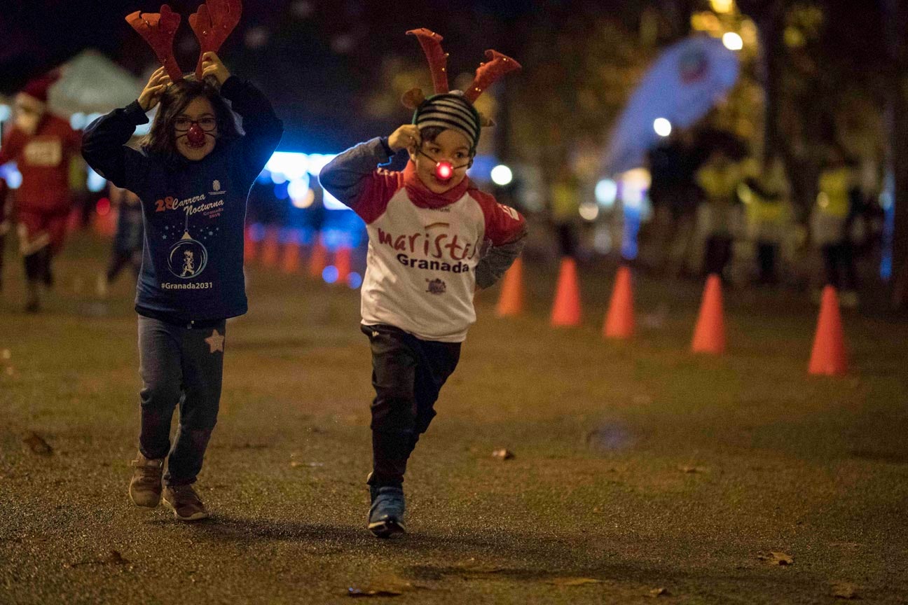
M854 164L840 147L830 149L817 190L811 235L823 256L824 285L840 292L843 307L856 307L858 279L851 229L864 204Z

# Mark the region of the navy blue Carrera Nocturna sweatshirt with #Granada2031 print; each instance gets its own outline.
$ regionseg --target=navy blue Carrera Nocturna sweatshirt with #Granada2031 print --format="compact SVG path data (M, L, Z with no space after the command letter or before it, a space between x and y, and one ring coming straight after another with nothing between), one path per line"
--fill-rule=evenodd
M125 143L148 122L138 102L85 129L82 153L94 171L142 200L142 274L135 310L173 323L209 322L246 312L243 226L252 183L281 141L283 125L252 84L231 76L222 96L245 135L217 141L200 161L166 161Z

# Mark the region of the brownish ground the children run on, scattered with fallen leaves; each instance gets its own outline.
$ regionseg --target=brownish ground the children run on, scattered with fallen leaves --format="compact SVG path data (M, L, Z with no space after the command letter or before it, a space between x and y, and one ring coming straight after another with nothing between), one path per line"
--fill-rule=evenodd
M606 342L610 274L585 271L584 326L554 329L555 278L530 269L527 317L479 296L410 533L379 541L357 292L251 271L198 483L212 519L183 524L126 496L135 317L127 278L94 299L102 265L77 239L36 317L6 268L0 603L908 602L904 321L846 314L852 371L817 378L794 296L727 292L728 354L692 356L698 284L638 278L637 337Z

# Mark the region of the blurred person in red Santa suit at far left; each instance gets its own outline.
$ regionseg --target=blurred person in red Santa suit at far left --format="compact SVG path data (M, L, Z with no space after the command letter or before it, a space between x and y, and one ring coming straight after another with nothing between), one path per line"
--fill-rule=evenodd
M47 111L47 90L58 77L37 78L15 96L15 122L0 146L0 165L15 161L22 174L15 217L25 259L25 310L32 313L40 308L41 284L54 282L51 259L63 245L72 205L69 164L82 144L81 133Z

